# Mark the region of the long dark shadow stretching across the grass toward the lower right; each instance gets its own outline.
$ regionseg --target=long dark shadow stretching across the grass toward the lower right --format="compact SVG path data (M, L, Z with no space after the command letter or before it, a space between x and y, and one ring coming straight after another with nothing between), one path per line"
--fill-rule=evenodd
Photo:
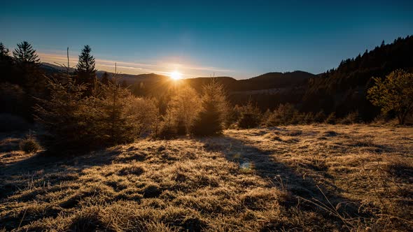
M261 150L244 140L230 136L197 138L197 140L204 143L205 150L221 152L226 159L238 163L241 168L248 166L245 164L252 164L257 175L278 187L286 187L288 193L293 196L288 201L281 203L287 208L299 207L300 210L317 210L324 217L331 217L330 212L334 212L333 209L339 204L340 208L336 210L346 218L368 216L360 215L356 203L339 195L342 189L331 183L328 184L327 188L325 184L316 184L310 176L303 177L302 173L297 173L293 168L277 161L276 152L273 150ZM326 173L324 176L330 177ZM327 189L334 189L334 191ZM331 211L321 209L314 203L328 205Z

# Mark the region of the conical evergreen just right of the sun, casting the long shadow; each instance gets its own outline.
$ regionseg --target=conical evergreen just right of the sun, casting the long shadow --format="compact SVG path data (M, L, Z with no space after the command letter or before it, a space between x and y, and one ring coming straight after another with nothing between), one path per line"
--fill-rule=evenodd
M223 132L228 115L228 103L223 85L212 80L204 85L202 110L195 119L192 132L197 136L215 136Z

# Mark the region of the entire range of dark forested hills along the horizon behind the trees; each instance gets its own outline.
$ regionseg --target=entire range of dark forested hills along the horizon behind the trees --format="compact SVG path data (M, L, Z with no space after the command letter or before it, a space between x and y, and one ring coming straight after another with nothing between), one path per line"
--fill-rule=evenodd
M58 69L52 64L43 68ZM397 38L393 43L381 43L373 50L357 57L343 60L337 68L314 75L304 71L287 73L265 73L254 78L235 80L218 77L224 85L232 103L244 104L248 99L257 103L262 110L274 109L279 103L293 103L305 112L336 113L342 117L357 111L365 120L373 119L379 108L366 99L366 92L372 86L372 77L384 78L395 69L413 71L413 36ZM98 78L104 71L98 71ZM109 73L113 75L113 73ZM130 75L121 74L124 85L138 96L165 94L174 82L166 75L155 73ZM211 78L190 78L182 80L198 92Z

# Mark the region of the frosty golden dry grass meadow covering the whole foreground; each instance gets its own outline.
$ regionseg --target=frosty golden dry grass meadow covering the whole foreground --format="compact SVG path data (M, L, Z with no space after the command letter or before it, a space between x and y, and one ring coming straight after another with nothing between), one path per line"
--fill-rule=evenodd
M228 130L65 158L6 140L0 230L413 229L408 127Z

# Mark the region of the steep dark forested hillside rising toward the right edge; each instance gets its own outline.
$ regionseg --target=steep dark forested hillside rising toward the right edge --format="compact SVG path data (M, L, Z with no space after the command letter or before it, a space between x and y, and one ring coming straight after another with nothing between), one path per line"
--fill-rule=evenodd
M366 99L372 77L383 78L398 68L413 71L413 36L399 37L390 44L383 41L363 55L343 60L337 69L310 78L302 110L323 109L337 115L358 110L361 117L371 119L378 113Z

